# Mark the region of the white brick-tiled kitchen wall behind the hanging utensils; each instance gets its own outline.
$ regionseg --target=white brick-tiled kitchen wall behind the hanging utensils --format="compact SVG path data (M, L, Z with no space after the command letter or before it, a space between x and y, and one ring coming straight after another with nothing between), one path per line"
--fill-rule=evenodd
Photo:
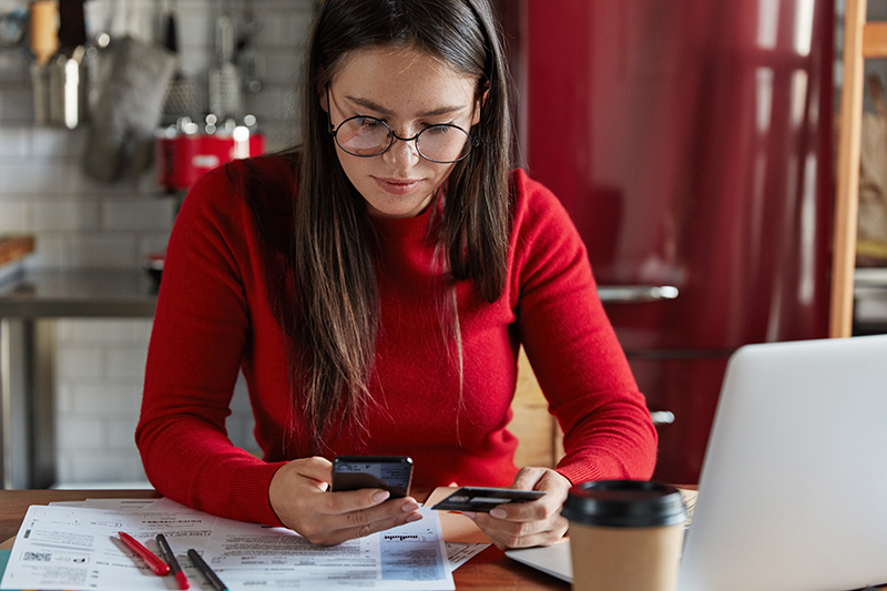
M54 33L61 14L59 3L52 3L58 14L51 23ZM80 6L85 30L82 47L86 48L79 68L81 80L85 78L86 82L85 89L81 82L80 92L86 92L85 104L90 109L81 110L72 129L63 118L48 121L48 112L41 113L40 105L35 105L41 89L34 75L38 58L30 47L30 35L13 43L16 35L10 34L8 47L0 49L0 235L27 234L34 238L32 253L0 266L0 278L2 269L10 276L22 269L143 273L150 255L165 248L187 188L183 181L190 182L188 174L193 176L234 155L233 132L225 129L228 114L221 113L216 129L208 133L204 119L213 114L211 73L224 72L220 68L223 63L236 60L235 73L243 71L242 85L227 81L228 91L239 90L241 94L239 109L230 113L237 126L261 136L266 151L292 145L298 136L296 86L302 47L316 8L314 0L88 0ZM3 22L10 21L10 29L14 29L14 18L9 16L27 18L31 8L28 1L0 0L0 12L8 16ZM155 64L147 54L167 47L171 17L175 19L177 48L174 53L165 51L174 58L163 63L165 70L151 70ZM222 62L220 38L232 32L234 49L228 49L231 57ZM126 48L129 40L143 45ZM135 50L135 54L121 49ZM52 58L42 65L44 75L47 69L63 70L58 61L65 52L73 54L61 42L48 52ZM115 58L120 58L116 72ZM254 64L252 70L241 70L247 59ZM75 58L63 61L74 62ZM174 64L171 75L169 63ZM140 78L139 68L149 74ZM170 86L179 86L180 96L187 95L191 84L196 112L162 112L159 118L145 114L146 109L156 109L165 98L157 70L169 78ZM104 104L103 111L95 111L102 91L121 80L121 84L132 83L142 94L152 93L151 74L155 78L153 85L160 86L160 99L154 90L156 100L143 104L141 112L126 112L116 104ZM58 72L53 75L58 78ZM223 90L224 83L223 80ZM220 91L216 94L225 96ZM132 100L125 90L118 89L116 96L121 102ZM233 102L236 106L237 101ZM247 126L245 119L249 115L254 121ZM200 130L190 129L183 118L191 118L190 123ZM104 129L96 132L99 125ZM145 128L150 130L147 141ZM180 166L177 175L164 176L153 153L155 130L164 141L182 142L183 150L188 142L201 140L208 145L185 154L188 164L194 161L187 173ZM95 137L103 131L115 136L119 152L124 154L114 159L114 152L105 150L105 169L114 169L113 179L109 179L108 170L101 170L101 162L98 177L86 170L88 154L94 151ZM133 147L140 140L149 146L146 156ZM144 147L141 150L144 152ZM60 318L55 328L57 428L52 445L57 485L143 480L133 434L141 404L150 316ZM228 430L237 445L255 448L243 385L235 396Z

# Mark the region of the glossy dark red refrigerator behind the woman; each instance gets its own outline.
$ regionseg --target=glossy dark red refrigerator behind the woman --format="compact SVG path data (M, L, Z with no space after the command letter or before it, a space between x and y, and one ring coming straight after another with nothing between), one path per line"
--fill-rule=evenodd
M659 426L696 482L726 361L827 336L834 0L500 2L518 155L563 202Z

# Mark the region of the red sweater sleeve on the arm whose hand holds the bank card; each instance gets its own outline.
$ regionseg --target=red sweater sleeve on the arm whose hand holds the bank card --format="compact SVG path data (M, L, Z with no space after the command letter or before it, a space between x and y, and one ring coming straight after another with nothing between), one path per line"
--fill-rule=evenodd
M656 431L606 317L585 247L554 195L518 171L514 265L527 356L564 432L558 471L646 480Z

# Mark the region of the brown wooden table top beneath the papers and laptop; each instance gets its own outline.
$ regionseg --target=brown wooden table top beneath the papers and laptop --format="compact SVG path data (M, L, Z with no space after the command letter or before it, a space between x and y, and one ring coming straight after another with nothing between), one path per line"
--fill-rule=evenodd
M0 490L0 541L19 532L28 507L51 501L160 498L153 490ZM420 495L416 495L420 497ZM569 591L570 585L524 567L491 546L452 572L457 589Z

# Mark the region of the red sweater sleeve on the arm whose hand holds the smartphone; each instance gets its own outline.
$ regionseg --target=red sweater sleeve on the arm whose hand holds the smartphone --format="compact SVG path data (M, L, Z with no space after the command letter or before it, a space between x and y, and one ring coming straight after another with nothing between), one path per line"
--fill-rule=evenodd
M239 268L249 224L223 170L204 175L185 198L164 261L135 439L164 496L279 526L268 485L282 463L236 448L225 430L251 330Z

